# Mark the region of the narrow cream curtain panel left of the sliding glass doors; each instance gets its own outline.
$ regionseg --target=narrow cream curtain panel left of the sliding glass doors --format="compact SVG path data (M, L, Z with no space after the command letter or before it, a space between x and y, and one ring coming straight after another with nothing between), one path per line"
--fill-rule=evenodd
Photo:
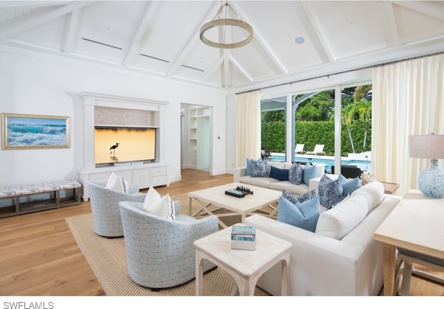
M246 166L246 158L260 157L261 97L260 91L236 95L237 105L237 167Z

